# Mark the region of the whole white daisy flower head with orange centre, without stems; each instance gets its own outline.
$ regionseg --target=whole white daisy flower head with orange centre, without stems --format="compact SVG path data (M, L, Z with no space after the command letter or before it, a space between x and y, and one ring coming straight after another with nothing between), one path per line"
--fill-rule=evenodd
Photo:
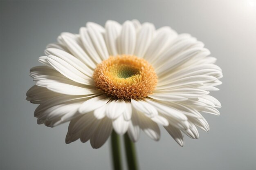
M80 138L99 148L112 129L128 132L132 141L140 130L159 140L164 126L183 146L182 132L197 139L197 128L209 130L201 112L219 115L220 102L209 95L221 84L216 58L202 42L169 26L88 22L79 34L62 33L45 54L38 59L44 66L30 70L36 85L27 100L40 104L38 124L70 121L67 144Z

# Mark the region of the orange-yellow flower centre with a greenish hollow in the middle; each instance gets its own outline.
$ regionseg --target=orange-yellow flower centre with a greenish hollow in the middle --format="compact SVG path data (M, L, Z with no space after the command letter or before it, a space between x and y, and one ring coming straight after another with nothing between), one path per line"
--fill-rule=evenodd
M153 66L135 55L110 56L97 65L93 77L99 91L115 99L141 99L157 85Z

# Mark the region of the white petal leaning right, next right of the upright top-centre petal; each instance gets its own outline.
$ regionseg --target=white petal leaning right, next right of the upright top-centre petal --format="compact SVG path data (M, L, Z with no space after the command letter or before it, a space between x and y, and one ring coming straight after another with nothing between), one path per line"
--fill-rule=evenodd
M148 46L153 39L155 26L151 23L144 23L137 33L137 42L134 55L143 57L148 49Z

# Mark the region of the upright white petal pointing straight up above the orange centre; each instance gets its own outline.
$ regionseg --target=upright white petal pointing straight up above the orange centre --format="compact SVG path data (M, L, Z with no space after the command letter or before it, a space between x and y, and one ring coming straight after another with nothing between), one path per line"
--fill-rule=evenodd
M131 21L123 24L120 34L121 54L133 55L136 44L136 31Z

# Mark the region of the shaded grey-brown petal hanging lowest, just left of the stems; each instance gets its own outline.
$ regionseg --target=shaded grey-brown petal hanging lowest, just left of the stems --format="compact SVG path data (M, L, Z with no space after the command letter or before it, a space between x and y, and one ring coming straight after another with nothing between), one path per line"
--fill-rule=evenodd
M105 117L102 119L97 130L94 132L90 139L92 148L100 148L108 139L112 132L112 122L110 119Z

